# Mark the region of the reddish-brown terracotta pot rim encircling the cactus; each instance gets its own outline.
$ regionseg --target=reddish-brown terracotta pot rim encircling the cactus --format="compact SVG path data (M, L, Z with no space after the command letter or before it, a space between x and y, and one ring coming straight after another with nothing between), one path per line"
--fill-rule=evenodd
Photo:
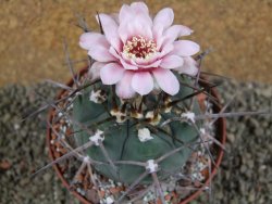
M84 75L87 73L87 67L83 68L78 74L79 76ZM67 84L67 86L72 87L73 86L73 79L71 79ZM201 86L207 86L207 84L201 82ZM60 97L65 92L65 90L62 90L57 99L60 99ZM218 94L218 91L213 88L211 90L211 95L214 97L218 100L218 103L220 102L220 98ZM213 104L213 112L214 113L219 113L221 110L221 106L219 104ZM51 110L49 112L48 115L48 119L51 123L52 122L52 117L53 117L53 111ZM226 140L226 125L225 125L225 119L224 118L219 118L215 123L215 127L217 127L217 139L224 145L225 144L225 140ZM49 148L49 156L52 161L54 161L55 158L58 158L55 156L55 149L52 148L50 141L52 140L52 132L51 132L51 128L48 126L47 127L47 145ZM215 150L217 152L217 158L215 158L215 165L212 165L212 169L211 169L211 174L209 175L209 177L206 179L205 181L205 186L198 190L196 190L194 193L189 194L187 197L183 199L180 203L181 204L186 204L193 200L195 200L203 190L205 187L209 186L211 179L213 179L213 177L217 174L217 169L219 168L222 157L223 157L223 150L221 148L219 148L218 145L213 144L213 150ZM86 197L84 197L82 194L79 194L78 192L76 192L75 190L71 190L70 184L67 182L67 180L64 178L63 176L63 170L61 169L59 164L53 165L53 168L58 175L58 177L61 179L63 186L69 189L71 191L71 193L74 194L74 196L76 199L78 199L82 203L85 204L91 204L90 201L86 200Z

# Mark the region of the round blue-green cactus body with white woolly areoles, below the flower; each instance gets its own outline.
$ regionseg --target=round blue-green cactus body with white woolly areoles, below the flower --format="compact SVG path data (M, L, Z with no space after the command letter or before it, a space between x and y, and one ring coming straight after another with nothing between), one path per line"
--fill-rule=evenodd
M178 78L181 81L185 81L185 78ZM101 95L103 101L91 101L90 92L92 94L94 92L103 92L104 95ZM197 101L194 101L191 110L188 110L190 100L175 103L176 100L191 94L190 88L181 87L181 91L172 98L160 93L122 101L114 99L111 89L101 84L96 88L84 90L82 93L74 100L73 117L85 127L102 131L100 132L103 138L101 142L109 158L99 145L86 150L86 154L91 160L104 163L95 165L99 174L112 180L131 184L146 171L146 168L145 166L126 164L127 161L135 163L156 161L182 148L158 163L160 169L158 177L165 179L181 170L194 151L194 145L189 144L196 142L198 131L188 120L185 119L184 123L172 122L162 126L166 119L180 117L185 112L194 111L194 113L200 114ZM74 125L74 131L77 132L75 139L78 146L90 140L91 135L82 126ZM146 131L148 135L147 141L143 141L140 138L141 131ZM109 160L113 163L119 161L119 163L111 165ZM150 175L140 181L140 183L150 182L152 182Z

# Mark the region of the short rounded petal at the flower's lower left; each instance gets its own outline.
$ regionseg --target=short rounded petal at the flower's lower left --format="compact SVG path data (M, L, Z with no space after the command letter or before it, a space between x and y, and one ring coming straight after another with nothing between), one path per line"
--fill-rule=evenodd
M104 85L114 85L121 80L125 69L118 63L109 63L100 69L100 78Z

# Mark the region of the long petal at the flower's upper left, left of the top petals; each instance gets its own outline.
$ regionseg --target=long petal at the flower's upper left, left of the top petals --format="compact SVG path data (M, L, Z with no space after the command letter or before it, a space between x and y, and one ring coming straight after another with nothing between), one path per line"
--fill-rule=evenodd
M99 14L99 18L101 21L101 25L104 31L104 36L107 40L118 51L121 51L121 39L118 33L118 24L115 20L113 20L110 15ZM98 15L97 15L98 20Z

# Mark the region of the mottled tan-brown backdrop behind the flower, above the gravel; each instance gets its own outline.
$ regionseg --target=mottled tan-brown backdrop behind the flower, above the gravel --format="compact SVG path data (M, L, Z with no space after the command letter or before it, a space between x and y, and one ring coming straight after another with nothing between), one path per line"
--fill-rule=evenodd
M72 60L86 58L76 14L98 30L96 12L118 12L118 0L0 0L0 86L45 78L66 81L63 38ZM174 9L175 23L195 30L190 39L212 49L203 69L242 81L272 82L271 0L148 0L150 12ZM77 64L77 68L84 63Z

